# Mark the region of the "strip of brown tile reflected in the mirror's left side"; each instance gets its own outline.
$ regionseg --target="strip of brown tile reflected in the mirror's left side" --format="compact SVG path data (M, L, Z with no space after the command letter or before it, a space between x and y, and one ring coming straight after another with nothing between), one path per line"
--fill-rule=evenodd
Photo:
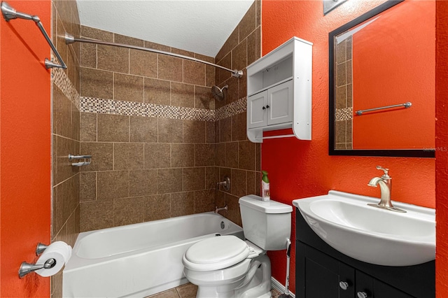
M353 149L352 36L335 48L335 149Z

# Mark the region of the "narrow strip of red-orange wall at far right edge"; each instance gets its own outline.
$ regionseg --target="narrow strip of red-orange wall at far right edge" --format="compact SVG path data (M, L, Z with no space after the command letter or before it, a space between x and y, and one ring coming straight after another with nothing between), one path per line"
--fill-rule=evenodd
M448 297L448 1L436 2L435 68L435 152L437 248L435 257L435 293Z

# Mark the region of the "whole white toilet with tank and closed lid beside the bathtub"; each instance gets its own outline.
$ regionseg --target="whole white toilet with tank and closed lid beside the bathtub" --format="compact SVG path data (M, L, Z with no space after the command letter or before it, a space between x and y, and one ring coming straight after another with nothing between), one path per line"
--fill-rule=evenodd
M271 297L266 250L286 249L293 207L251 194L239 199L239 209L246 241L216 236L183 255L183 273L198 286L197 297Z

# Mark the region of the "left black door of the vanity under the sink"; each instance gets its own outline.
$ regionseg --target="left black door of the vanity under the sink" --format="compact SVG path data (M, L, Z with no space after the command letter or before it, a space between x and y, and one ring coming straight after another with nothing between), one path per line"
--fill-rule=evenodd
M296 297L355 297L355 270L301 242L297 242L296 268Z

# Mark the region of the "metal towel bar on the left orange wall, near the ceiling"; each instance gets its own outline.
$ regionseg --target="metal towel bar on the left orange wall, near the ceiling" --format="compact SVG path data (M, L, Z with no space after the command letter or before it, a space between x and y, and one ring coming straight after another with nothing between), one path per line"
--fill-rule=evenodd
M19 11L15 10L12 6L10 6L6 1L1 1L1 13L3 14L3 18L6 20L6 22L9 22L10 20L14 19L24 19L24 20L32 20L39 30L41 30L43 37L45 37L45 40L47 41L48 45L50 45L50 48L55 53L57 59L59 60L59 64L56 64L55 62L52 62L50 59L45 58L45 68L46 69L52 69L53 67L59 68L59 69L66 69L67 66L62 60L61 55L59 55L59 52L57 52L55 45L53 45L50 36L48 36L47 32L42 26L41 19L37 15L28 15L27 13L20 13Z

